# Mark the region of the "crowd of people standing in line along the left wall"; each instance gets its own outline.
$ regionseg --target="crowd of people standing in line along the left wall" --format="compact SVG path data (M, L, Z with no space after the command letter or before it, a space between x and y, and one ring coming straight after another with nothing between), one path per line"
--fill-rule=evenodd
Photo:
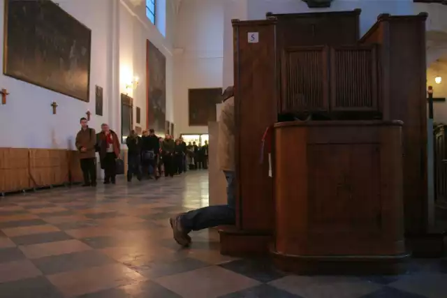
M83 186L96 186L96 152L99 153L101 169L104 170L104 184L115 184L117 167L123 165L120 158L120 142L117 134L107 124L101 125L101 133L89 128L87 119L80 119L81 129L76 135L76 148L80 152L80 165L84 177ZM140 137L135 131L126 137L128 147L127 181L136 176L138 180L147 177L158 180L174 177L186 170L206 169L208 144L188 145L180 137L173 140L171 135L155 135L153 129L143 132ZM124 169L123 169L124 171ZM118 171L120 172L120 171ZM119 173L121 174L121 173Z

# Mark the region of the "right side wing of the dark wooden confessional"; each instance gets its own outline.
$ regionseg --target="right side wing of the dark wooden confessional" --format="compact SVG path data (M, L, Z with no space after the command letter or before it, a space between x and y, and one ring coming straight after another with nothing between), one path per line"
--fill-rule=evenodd
M404 121L404 206L407 234L427 232L426 13L379 15L360 40L378 43L384 120Z

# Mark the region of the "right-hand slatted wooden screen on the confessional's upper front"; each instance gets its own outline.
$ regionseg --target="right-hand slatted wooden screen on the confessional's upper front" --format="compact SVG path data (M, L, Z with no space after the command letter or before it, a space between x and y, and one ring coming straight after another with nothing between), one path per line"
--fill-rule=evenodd
M331 49L332 111L377 110L377 81L376 47L349 46Z

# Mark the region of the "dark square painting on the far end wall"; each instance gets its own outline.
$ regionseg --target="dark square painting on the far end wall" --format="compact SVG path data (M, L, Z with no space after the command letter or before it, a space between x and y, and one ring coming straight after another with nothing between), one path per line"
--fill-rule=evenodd
M221 94L222 88L189 89L189 126L208 126L208 122L216 121Z

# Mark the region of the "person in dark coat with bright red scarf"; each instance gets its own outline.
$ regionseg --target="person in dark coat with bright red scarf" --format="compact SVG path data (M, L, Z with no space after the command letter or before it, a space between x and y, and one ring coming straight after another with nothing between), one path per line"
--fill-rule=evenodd
M99 133L99 158L101 158L101 169L104 170L104 184L116 183L117 163L120 144L115 131L111 131L107 124L101 125Z

